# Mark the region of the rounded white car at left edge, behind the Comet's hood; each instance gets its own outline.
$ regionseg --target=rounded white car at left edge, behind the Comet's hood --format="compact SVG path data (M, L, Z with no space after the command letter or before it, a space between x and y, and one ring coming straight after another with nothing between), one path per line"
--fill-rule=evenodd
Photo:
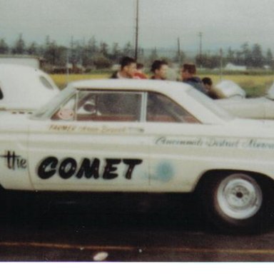
M26 113L59 93L50 76L38 68L0 64L0 110Z

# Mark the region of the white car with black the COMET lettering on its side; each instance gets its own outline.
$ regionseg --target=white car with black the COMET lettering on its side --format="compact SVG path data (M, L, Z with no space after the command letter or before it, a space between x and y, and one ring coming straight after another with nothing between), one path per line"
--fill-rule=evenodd
M273 201L274 123L234 118L184 83L78 81L1 120L6 190L196 192L197 210L234 231L257 229Z

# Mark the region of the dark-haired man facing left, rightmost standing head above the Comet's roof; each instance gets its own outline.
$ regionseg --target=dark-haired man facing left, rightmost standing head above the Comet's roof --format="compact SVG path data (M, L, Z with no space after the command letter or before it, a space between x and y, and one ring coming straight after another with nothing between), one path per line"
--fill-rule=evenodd
M189 85L193 86L193 88L198 89L198 91L207 94L201 78L196 76L196 66L194 64L183 64L181 75L183 83L188 83Z

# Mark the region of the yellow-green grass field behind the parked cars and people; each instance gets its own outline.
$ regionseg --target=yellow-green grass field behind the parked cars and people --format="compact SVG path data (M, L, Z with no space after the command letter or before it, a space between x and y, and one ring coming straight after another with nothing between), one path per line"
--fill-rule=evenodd
M102 79L109 78L111 73L91 73L91 74L51 74L59 88L64 88L66 84L70 81L84 80L84 79ZM220 81L220 76L213 74L200 75L201 78L208 76L212 78L213 83L218 83ZM274 81L274 75L223 75L223 80L231 80L245 90L248 97L263 96L268 88L272 85Z

